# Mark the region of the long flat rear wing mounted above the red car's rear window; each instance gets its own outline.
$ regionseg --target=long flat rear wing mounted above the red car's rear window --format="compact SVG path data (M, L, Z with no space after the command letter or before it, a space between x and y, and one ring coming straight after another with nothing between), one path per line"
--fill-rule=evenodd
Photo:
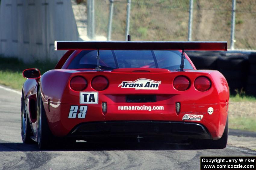
M54 44L55 50L227 51L226 41L55 41Z

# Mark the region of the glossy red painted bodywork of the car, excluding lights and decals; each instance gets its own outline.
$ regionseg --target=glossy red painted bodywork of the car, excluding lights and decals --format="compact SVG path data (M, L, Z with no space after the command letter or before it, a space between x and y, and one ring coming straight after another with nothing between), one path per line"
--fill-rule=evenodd
M185 70L184 72L169 71L166 69L115 69L113 71L96 72L95 70L66 69L67 65L79 51L75 51L64 63L62 69L50 70L42 75L39 82L35 79L27 80L23 85L26 97L33 96L40 85L44 109L52 133L58 137L69 134L76 125L83 122L104 121L174 121L174 122L196 122L204 125L213 139L219 139L224 131L228 116L229 88L225 77L215 70ZM187 57L187 56L186 56ZM191 62L191 60L187 57ZM195 66L192 64L193 68ZM58 65L60 68L60 65ZM134 71L147 72L134 72ZM103 91L98 91L98 104L80 104L80 92L70 88L69 82L75 76L82 76L87 80L88 86L84 92L97 92L91 86L95 76L104 76L109 85ZM173 87L173 80L177 76L185 76L191 85L186 91L178 91ZM195 89L194 81L198 76L210 79L212 85L208 91L201 92ZM161 83L158 89L135 89L121 88L122 82L135 81L138 79L149 79ZM156 102L150 103L127 103L126 95L155 95ZM48 109L50 101L50 110ZM102 112L102 102L107 102L107 112ZM175 103L180 102L180 113L176 113ZM88 106L84 119L68 118L71 106ZM121 107L130 108L149 107L149 110L121 110ZM153 110L154 107L164 107L161 110ZM208 114L208 108L212 107L214 112ZM200 121L183 120L185 114L203 115ZM31 116L30 116L31 117ZM31 122L35 122L31 118ZM35 130L34 130L35 131Z

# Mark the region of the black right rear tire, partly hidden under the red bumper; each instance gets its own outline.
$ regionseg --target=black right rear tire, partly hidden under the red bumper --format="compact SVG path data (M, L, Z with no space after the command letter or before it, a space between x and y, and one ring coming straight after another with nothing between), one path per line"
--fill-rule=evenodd
M223 149L228 141L228 117L223 135L218 140L192 140L191 147L197 149Z

